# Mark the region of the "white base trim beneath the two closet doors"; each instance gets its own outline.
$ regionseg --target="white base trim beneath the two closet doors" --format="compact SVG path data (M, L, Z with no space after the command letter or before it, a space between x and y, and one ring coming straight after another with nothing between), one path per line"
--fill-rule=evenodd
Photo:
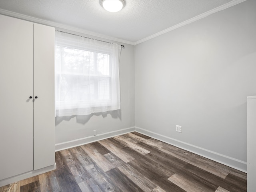
M24 180L24 179L27 179L27 178L30 178L30 177L33 177L33 176L36 176L36 175L40 175L40 174L43 174L43 173L46 173L48 171L52 171L52 170L55 170L55 169L56 169L56 163L54 165L44 167L42 169L38 169L38 170L35 170L35 171L33 170L33 171L30 171L30 172L26 172L24 174L20 174L20 175L17 175L17 176L6 178L6 179L3 179L3 180L0 180L0 187L8 185L10 183L20 181L20 180Z

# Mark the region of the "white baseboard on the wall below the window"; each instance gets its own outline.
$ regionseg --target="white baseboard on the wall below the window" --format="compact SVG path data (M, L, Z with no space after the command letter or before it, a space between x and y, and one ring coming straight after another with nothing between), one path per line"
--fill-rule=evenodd
M68 142L57 143L57 144L55 144L55 151L60 151L60 150L69 149L72 147L77 147L80 145L96 142L99 140L111 138L114 136L130 133L130 132L134 132L134 131L135 131L135 128L130 127L130 128L126 128L126 129L117 130L117 131L107 132L104 134L98 134L95 136L84 137L84 138L80 138L80 139L76 139L76 140L72 140L72 141L68 141Z

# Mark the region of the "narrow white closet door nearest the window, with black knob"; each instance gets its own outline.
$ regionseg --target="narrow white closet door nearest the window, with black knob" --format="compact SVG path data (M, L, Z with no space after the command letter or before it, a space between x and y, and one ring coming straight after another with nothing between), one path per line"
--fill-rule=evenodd
M55 163L54 34L34 24L34 170Z

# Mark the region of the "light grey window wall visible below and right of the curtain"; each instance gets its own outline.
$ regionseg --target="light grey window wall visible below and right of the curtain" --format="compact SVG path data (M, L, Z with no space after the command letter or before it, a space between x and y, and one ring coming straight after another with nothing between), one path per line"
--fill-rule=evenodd
M117 42L118 44L123 44ZM56 124L56 144L70 142L92 136L93 130L97 134L116 132L126 128L134 128L134 46L124 44L120 56L120 97L121 110L98 113L90 116L57 117ZM98 138L95 138L98 139ZM88 140L85 140L86 142ZM83 141L82 141L83 142ZM72 146L74 143L64 145ZM56 147L56 149L62 148Z

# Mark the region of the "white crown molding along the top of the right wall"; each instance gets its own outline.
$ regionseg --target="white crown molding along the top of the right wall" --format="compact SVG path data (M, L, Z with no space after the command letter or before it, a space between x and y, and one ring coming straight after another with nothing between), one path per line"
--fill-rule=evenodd
M186 21L184 21L184 22L181 22L181 23L179 23L179 24L176 24L176 25L174 25L174 26L172 26L172 27L170 27L170 28L167 28L167 29L165 29L165 30L162 30L162 31L160 31L160 32L158 32L158 33L155 33L155 34L151 35L151 36L148 36L148 37L146 37L146 38L143 38L143 39L141 39L141 40L138 40L138 41L134 42L134 45L137 45L137 44L140 44L140 43L145 42L145 41L147 41L147 40L150 40L150 39L152 39L152 38L155 38L155 37L157 37L157 36L160 36L160 35L162 35L162 34L165 34L165 33L167 33L167 32L170 32L170 31L174 30L174 29L180 28L180 27L182 27L182 26L184 26L184 25L187 25L187 24L190 24L190 23L195 22L195 21L197 21L197 20L200 20L200 19L202 19L202 18L205 18L205 17L207 17L207 16L209 16L209 15L211 15L211 14L214 14L214 13L219 12L219 11L221 11L221 10L224 10L224 9L226 9L226 8L232 7L232 6L236 5L236 4L239 4L239 3L244 2L244 1L246 1L246 0L233 0L233 1L230 1L230 2L228 2L228 3L226 3L226 4L222 5L222 6L219 6L219 7L217 7L217 8L214 8L214 9L210 10L210 11L207 11L207 12L205 12L205 13L202 13L202 14L200 14L200 15L198 15L198 16L195 16L195 17L193 17L193 18L191 18L191 19L188 19L188 20L186 20Z

